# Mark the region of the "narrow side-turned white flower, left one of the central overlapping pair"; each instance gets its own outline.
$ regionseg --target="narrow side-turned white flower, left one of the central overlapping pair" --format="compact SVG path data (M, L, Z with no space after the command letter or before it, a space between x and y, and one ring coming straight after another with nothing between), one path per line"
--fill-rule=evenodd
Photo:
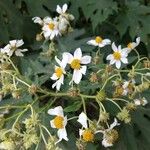
M64 83L64 74L66 73L65 67L67 65L68 57L63 54L62 61L60 61L57 57L55 57L55 60L59 64L59 66L55 66L55 73L51 77L52 80L56 81L52 85L52 88L56 86L56 89L59 91L61 84Z

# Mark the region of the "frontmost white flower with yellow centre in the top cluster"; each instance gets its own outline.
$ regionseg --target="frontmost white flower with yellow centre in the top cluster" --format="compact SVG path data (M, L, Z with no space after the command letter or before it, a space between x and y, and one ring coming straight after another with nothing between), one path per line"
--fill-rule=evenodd
M44 26L42 27L45 39L52 40L55 36L61 35L58 29L58 18L45 17L43 19Z

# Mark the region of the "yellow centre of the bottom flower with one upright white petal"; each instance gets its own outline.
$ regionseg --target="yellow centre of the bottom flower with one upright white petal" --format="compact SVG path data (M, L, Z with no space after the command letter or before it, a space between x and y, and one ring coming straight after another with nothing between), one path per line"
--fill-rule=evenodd
M82 134L83 140L86 142L92 142L94 139L94 134L91 130L86 129Z

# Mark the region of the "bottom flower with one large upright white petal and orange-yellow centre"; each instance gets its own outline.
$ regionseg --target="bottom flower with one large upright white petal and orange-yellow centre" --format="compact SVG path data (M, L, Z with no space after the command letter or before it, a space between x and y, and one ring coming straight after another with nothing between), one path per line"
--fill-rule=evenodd
M79 115L79 119L77 121L84 128L84 130L83 129L79 129L79 135L80 135L80 137L82 137L83 140L86 141L86 142L92 142L94 140L94 133L93 133L93 131L91 129L88 128L86 114L84 112L82 112Z

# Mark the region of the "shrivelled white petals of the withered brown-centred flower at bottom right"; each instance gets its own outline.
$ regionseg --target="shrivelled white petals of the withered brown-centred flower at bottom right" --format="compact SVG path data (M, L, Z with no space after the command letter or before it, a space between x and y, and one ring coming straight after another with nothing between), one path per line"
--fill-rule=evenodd
M117 119L115 118L114 119L114 122L109 126L108 129L105 129L104 131L103 130L99 130L99 131L96 131L96 133L103 133L103 140L102 140L102 145L104 147L111 147L113 146L113 143L110 142L109 140L109 132L112 131L112 129L116 126L120 125L117 121Z

